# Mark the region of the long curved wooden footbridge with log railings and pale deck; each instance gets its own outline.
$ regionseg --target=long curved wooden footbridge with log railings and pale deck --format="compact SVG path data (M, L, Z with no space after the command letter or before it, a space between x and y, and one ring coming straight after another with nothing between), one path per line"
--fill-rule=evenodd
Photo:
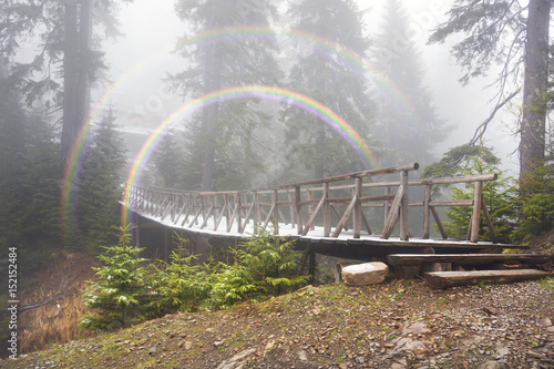
M397 253L481 253L500 245L483 197L496 174L410 180L417 163L248 191L192 192L129 185L127 203L140 226L156 224L207 239L249 237L256 228L297 239L299 249L345 258ZM433 186L474 184L473 199L438 201ZM420 198L416 198L416 197ZM438 208L469 206L466 239L449 239ZM419 225L410 222L417 209ZM422 213L422 216L421 216ZM479 242L484 217L491 242ZM431 239L434 221L441 237ZM417 237L419 236L419 237Z

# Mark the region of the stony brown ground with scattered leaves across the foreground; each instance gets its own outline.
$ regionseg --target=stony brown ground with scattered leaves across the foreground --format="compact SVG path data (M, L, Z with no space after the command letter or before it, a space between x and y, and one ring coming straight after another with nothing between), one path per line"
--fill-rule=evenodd
M0 368L554 368L553 321L552 278L433 290L390 275L167 315Z

